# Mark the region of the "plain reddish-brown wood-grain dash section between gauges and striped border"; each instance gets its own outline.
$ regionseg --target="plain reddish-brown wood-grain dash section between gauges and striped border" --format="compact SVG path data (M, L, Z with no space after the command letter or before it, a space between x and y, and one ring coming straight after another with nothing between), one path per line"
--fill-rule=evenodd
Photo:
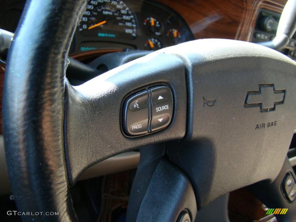
M246 14L246 0L158 0L175 10L196 39L235 39Z

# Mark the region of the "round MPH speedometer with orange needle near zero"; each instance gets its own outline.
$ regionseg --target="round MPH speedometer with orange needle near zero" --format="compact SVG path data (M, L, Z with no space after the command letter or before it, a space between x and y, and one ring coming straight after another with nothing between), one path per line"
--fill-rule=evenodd
M137 33L136 18L121 0L92 0L87 4L79 31L83 36L133 39Z

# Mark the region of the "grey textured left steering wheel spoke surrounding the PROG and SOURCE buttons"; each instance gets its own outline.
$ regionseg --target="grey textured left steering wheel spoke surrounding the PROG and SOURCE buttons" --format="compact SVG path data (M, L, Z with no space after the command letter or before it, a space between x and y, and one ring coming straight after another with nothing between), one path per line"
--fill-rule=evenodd
M125 99L155 85L168 85L175 102L163 131L130 138L122 130ZM100 75L80 86L66 87L65 133L71 182L87 167L148 144L182 139L186 131L186 79L183 63L173 55L153 53Z

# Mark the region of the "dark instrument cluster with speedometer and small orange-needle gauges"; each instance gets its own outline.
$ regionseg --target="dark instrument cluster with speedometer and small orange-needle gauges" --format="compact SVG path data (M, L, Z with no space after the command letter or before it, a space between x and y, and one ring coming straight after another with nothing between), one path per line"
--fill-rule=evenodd
M194 36L183 18L156 1L90 0L70 53L157 50L191 40Z

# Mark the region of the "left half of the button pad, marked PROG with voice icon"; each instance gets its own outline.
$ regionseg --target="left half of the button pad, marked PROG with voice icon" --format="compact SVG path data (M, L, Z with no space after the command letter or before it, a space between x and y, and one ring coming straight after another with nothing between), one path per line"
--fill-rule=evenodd
M125 133L131 136L148 133L148 91L131 96L125 101L123 107Z

